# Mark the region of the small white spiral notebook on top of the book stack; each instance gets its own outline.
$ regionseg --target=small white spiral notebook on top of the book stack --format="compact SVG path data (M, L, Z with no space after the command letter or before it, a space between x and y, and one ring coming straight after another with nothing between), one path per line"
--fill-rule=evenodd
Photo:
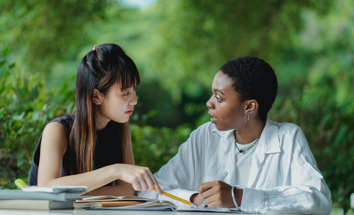
M46 193L85 193L86 186L53 186L53 187L23 187L24 192L46 192Z

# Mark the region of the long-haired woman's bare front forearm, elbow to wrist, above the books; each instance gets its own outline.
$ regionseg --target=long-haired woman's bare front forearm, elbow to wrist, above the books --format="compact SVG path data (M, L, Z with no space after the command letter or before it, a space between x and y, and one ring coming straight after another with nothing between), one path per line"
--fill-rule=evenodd
M110 165L87 173L58 177L50 180L38 177L38 186L87 186L88 191L92 191L119 179L119 175L117 171L115 171L116 169L116 165Z

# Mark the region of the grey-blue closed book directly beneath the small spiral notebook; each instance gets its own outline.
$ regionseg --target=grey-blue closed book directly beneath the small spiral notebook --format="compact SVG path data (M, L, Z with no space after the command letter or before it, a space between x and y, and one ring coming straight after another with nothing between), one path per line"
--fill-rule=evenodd
M54 201L74 201L82 198L80 193L23 192L22 190L0 190L0 199L43 199Z

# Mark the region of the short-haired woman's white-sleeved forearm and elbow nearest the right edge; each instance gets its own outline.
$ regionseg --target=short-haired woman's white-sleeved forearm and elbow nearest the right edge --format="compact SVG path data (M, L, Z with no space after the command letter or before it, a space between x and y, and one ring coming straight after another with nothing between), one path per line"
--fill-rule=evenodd
M312 213L328 215L332 200L322 175L309 163L294 174L293 186L267 189L244 188L241 209L269 213Z

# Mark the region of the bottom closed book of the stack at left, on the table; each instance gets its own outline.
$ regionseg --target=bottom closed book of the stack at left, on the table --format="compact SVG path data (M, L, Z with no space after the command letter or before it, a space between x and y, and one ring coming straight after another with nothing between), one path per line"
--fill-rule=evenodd
M72 201L52 201L35 199L0 199L0 209L52 210L72 209Z

